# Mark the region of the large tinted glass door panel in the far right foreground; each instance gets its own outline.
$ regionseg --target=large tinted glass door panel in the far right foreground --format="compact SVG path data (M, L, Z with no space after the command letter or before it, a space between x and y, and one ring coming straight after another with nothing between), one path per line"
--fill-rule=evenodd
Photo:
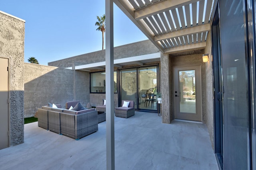
M250 168L250 97L244 6L219 2L223 81L224 169ZM228 9L228 10L227 10ZM238 12L240 11L240 12ZM234 18L236 18L234 20ZM250 25L250 23L249 23ZM248 35L247 35L248 36Z

